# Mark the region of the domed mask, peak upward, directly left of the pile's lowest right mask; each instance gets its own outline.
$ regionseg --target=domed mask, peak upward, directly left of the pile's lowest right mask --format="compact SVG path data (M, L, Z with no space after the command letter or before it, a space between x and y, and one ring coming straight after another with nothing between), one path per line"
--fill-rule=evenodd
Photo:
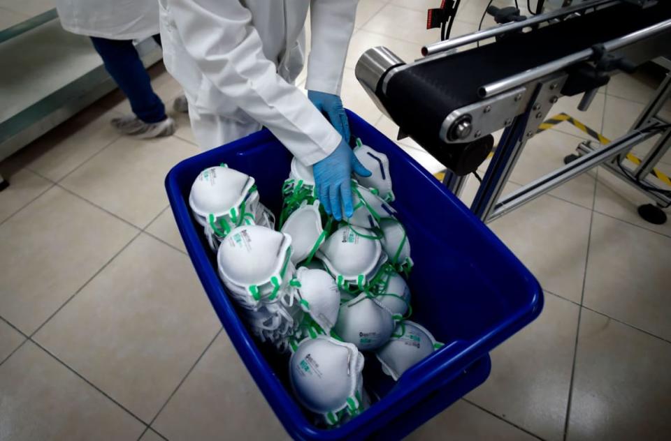
M387 343L394 332L394 317L379 301L363 292L340 306L333 331L359 350L375 350Z

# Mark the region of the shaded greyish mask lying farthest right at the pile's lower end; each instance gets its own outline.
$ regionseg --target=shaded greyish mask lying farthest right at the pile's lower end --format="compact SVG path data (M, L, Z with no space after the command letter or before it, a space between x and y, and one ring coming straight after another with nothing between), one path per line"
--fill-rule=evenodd
M382 371L398 380L401 375L433 351L442 347L420 324L400 322L389 342L377 350Z

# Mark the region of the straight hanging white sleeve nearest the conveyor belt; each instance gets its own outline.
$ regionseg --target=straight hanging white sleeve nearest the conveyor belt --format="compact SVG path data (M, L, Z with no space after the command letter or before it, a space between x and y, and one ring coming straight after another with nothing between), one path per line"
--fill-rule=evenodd
M305 89L340 95L342 70L359 0L310 1L310 54Z

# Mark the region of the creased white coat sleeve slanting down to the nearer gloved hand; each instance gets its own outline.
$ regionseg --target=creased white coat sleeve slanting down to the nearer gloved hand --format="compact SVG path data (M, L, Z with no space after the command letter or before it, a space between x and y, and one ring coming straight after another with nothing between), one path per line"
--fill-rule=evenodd
M338 147L340 134L264 56L250 10L237 0L168 0L168 5L185 50L203 75L298 160L312 165Z

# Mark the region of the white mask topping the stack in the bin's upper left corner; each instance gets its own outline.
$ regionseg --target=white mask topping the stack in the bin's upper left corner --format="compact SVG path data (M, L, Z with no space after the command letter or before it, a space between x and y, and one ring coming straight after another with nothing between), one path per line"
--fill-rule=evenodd
M189 193L189 207L202 223L223 237L245 219L254 217L253 204L258 200L254 178L226 166L210 167L196 178ZM252 209L245 209L246 205Z

